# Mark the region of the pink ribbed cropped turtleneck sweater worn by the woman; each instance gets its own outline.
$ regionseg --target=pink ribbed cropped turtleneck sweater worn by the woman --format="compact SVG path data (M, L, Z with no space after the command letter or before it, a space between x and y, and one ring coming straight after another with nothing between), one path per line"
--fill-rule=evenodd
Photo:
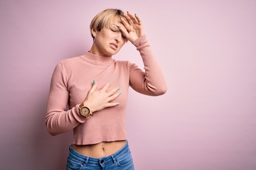
M76 145L127 140L125 111L129 86L149 96L166 92L164 76L146 35L133 44L142 56L145 71L132 62L116 61L112 57L89 52L57 64L50 83L46 111L46 127L51 135L73 130L73 144ZM80 115L78 107L85 101L93 80L97 81L98 89L111 82L110 89L119 86L122 94L114 100L120 103L119 106L97 111L86 120Z

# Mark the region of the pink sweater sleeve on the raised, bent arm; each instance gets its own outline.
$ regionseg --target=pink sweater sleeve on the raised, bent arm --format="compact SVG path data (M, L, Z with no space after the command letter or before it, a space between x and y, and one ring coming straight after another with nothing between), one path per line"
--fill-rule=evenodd
M133 42L144 63L144 71L137 64L130 67L129 84L135 91L149 96L159 96L167 91L166 81L151 51L146 35Z

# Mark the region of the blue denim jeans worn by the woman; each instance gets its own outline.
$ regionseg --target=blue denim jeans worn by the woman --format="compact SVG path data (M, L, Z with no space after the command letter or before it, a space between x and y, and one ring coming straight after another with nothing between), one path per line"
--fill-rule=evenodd
M67 170L134 170L128 142L122 149L108 157L93 158L76 152L72 145L68 155Z

